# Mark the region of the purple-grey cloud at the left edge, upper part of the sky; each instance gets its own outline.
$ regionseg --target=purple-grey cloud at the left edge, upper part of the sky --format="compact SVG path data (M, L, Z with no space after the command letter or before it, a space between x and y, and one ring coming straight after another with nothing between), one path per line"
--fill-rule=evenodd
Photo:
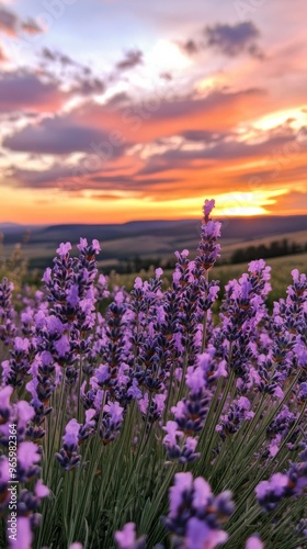
M67 98L58 82L42 81L29 70L0 72L0 112L49 112L59 109Z

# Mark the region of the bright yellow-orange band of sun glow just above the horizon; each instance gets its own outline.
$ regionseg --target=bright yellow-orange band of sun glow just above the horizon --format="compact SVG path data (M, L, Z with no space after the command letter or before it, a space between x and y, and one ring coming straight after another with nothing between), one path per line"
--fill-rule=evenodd
M154 200L148 197L136 197L132 193L107 192L95 195L90 192L62 193L54 191L53 205L43 200L43 191L27 192L19 190L23 199L15 204L14 193L7 190L7 201L10 208L0 216L0 223L11 221L24 224L58 224L58 223L126 223L144 220L182 220L201 219L202 206L206 198L214 198L215 217L253 215L270 215L270 205L275 205L277 198L287 194L285 189L272 191L234 192L217 194L213 189L204 190L202 195L179 198L174 200ZM67 201L69 200L69 209ZM24 204L27 208L24 209ZM8 211L14 213L8 219ZM55 215L54 212L57 212ZM276 214L276 212L274 212Z

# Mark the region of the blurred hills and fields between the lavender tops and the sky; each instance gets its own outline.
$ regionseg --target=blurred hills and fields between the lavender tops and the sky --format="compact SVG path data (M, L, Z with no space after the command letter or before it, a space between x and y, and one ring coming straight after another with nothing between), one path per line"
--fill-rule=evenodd
M44 269L52 267L59 243L77 244L81 236L100 240L99 268L110 277L110 285L129 291L136 276L146 279L158 267L163 268L167 289L175 265L174 251L186 248L190 257L195 257L201 221L1 228L0 278L7 276L12 280L16 292L23 284L39 288ZM72 253L77 251L75 246ZM273 290L269 296L272 309L273 301L285 295L291 271L297 268L306 272L306 216L224 220L221 257L211 272L211 278L220 281L219 301L225 284L246 272L250 260L259 258L265 258L272 267Z

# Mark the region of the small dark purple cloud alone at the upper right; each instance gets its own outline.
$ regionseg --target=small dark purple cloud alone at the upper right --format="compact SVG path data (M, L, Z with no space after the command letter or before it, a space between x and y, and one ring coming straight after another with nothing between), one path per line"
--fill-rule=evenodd
M207 47L214 47L228 57L235 57L242 52L262 58L255 40L260 33L254 23L245 21L235 25L219 24L206 26L204 30Z

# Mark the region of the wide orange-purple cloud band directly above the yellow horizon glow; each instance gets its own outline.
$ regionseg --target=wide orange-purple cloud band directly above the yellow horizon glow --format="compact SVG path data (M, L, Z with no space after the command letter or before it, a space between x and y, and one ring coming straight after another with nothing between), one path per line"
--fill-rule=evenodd
M49 136L49 128L47 133ZM75 127L75 133L80 139L80 128ZM59 126L55 135L58 142L70 143L70 135L62 133ZM305 181L306 166L296 167L295 157L289 158L277 171L275 163L270 164L269 160L272 152L284 150L285 144L288 148L289 143L294 143L295 134L289 135L283 127L280 127L278 131L272 133L263 132L263 135L266 136L263 143L248 144L238 141L238 135L236 136L234 132L215 134L186 131L180 146L146 158L143 167L139 165L137 155L135 158L129 156L129 167L125 165L127 159L125 147L113 150L111 164L103 159L98 161L86 139L84 147L88 147L88 155L84 155L78 164L67 165L65 161L57 161L50 168L41 171L11 167L9 177L14 180L15 184L24 188L58 188L69 193L82 190L129 191L157 201L171 199L174 192L177 195L186 198L197 195L204 187L204 173L207 180L205 184L212 184L211 188L219 191L225 187L245 192L249 189L251 191L274 190L276 186L286 186L292 179ZM99 138L101 139L102 135ZM198 143L203 143L204 148L193 148L193 145ZM48 141L48 150L50 145ZM77 147L76 143L72 145L73 148ZM189 145L187 148L185 148L186 145ZM37 143L32 148L36 149ZM44 147L42 148L46 152ZM69 150L66 149L66 152ZM303 159L304 163L304 150L302 149L300 153L303 156L299 155L299 161ZM242 168L246 160L248 165ZM259 169L252 169L252 166L258 166ZM191 179L193 186L187 183ZM254 183L253 188L251 188L251 181Z

